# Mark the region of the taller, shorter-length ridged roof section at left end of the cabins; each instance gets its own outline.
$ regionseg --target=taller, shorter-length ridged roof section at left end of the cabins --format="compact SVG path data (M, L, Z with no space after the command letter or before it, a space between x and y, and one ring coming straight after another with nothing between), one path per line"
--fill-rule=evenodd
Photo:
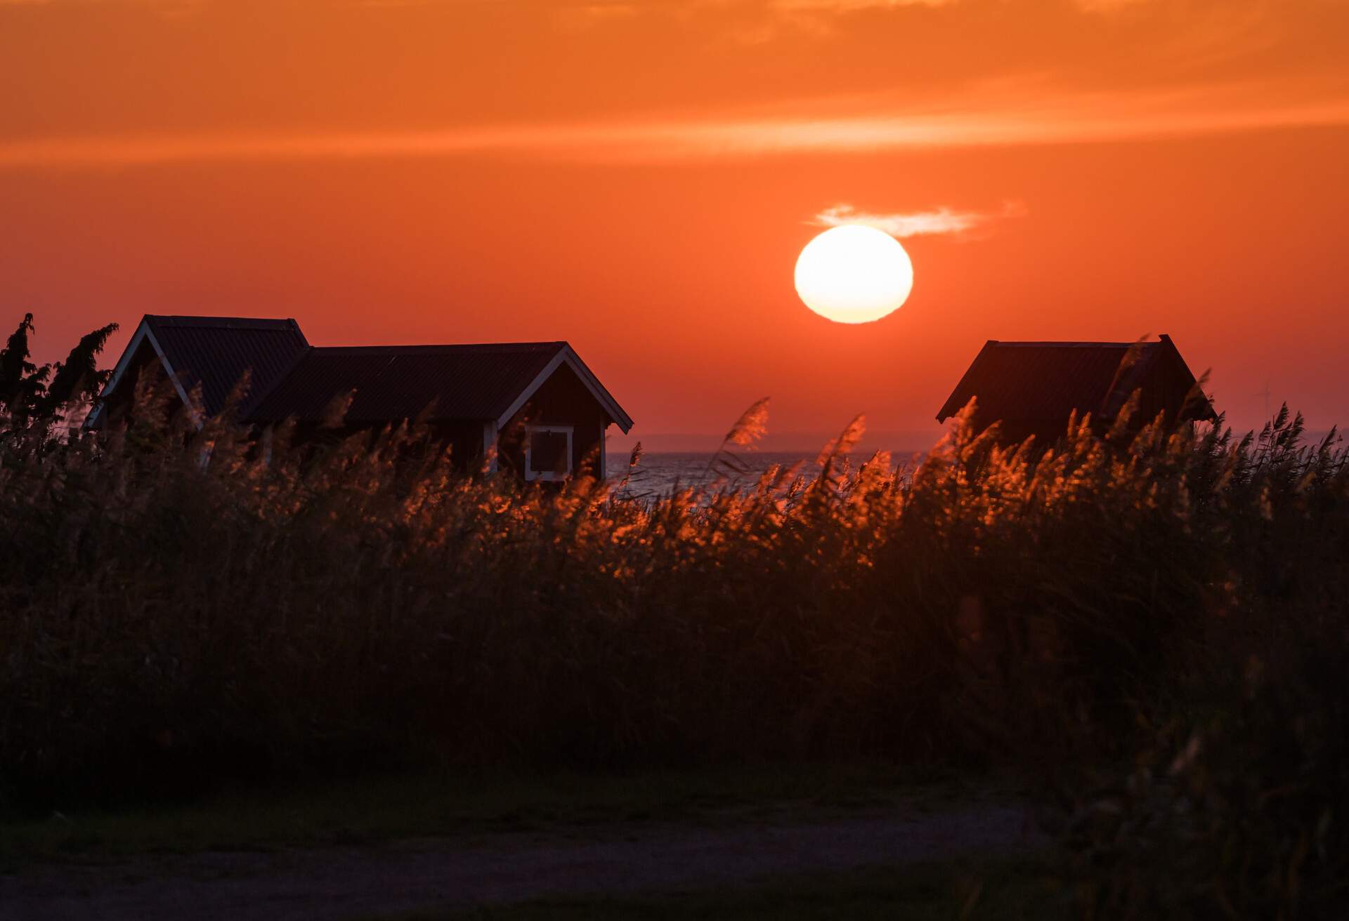
M201 386L208 415L220 411L246 371L251 371L247 403L275 384L309 348L294 320L146 314L144 322L183 390Z

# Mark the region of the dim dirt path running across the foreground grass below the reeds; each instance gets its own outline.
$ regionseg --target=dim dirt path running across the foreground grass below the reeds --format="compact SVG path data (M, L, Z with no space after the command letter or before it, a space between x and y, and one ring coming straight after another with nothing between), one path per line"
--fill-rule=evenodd
M542 895L695 889L1033 844L1008 805L737 827L630 824L216 852L0 877L0 918L362 918Z

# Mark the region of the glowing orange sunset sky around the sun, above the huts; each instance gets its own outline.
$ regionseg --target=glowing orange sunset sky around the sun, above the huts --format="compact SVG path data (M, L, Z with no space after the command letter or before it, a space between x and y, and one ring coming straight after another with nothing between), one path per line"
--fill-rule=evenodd
M1166 332L1327 427L1346 61L1344 0L0 0L0 321L567 338L634 436L896 449L986 338ZM792 290L839 206L939 231L877 324Z

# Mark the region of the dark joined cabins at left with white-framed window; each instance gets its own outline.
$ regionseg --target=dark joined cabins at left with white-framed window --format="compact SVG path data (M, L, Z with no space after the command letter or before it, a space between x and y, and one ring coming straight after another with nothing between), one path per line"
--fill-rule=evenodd
M190 413L214 415L246 374L237 405L246 423L293 421L304 441L417 421L463 467L490 460L526 480L583 468L603 476L604 432L633 427L567 343L316 348L294 320L148 314L88 425L135 411L146 375L171 386Z

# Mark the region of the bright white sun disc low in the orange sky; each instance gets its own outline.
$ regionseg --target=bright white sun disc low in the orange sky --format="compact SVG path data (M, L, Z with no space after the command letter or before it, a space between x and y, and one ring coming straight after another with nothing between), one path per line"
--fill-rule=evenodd
M898 310L913 290L913 263L900 241L865 224L834 227L796 260L796 293L815 313L869 324Z

